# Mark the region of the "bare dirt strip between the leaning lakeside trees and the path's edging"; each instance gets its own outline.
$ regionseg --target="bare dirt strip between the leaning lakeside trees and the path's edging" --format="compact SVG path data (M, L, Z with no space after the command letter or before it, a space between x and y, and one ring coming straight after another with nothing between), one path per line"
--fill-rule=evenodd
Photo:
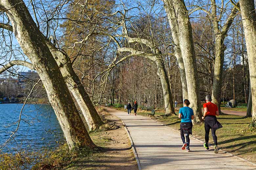
M103 115L108 123L120 128L91 133L90 136L102 150L90 158L77 160L66 170L138 170L127 132L119 118L109 113Z

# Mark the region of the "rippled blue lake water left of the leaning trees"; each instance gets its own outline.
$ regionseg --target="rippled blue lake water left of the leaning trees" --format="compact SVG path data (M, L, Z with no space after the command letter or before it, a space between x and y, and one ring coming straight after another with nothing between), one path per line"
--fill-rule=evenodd
M11 132L15 131L22 106L23 104L0 104L0 146L10 138ZM8 142L3 152L54 148L64 141L63 132L51 106L25 105L21 119L14 140Z

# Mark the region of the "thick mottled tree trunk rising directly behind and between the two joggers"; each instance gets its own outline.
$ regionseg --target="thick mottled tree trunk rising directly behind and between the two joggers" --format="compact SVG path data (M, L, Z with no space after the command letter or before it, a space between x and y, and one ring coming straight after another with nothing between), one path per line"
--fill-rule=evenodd
M194 111L194 124L202 122L202 109L200 102L200 92L198 86L198 74L196 65L196 54L192 36L192 27L188 18L188 11L183 0L175 0L175 13L179 24L179 40L181 54L185 66L188 99L190 107Z

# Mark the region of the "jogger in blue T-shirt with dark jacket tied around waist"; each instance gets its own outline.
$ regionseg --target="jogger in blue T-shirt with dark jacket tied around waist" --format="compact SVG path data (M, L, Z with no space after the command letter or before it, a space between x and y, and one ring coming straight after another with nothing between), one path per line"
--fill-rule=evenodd
M184 100L184 107L180 109L179 111L179 118L181 119L181 140L183 142L183 145L181 147L182 150L187 147L187 151L189 152L189 135L192 135L192 120L194 119L194 112L193 110L188 107L190 104L188 99ZM185 142L185 137L186 136L186 142Z

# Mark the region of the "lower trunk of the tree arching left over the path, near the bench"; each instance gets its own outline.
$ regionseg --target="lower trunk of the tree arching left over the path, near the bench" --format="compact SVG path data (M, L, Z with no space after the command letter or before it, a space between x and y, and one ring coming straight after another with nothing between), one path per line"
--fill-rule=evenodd
M176 115L173 107L172 93L170 88L170 82L166 73L164 63L162 59L156 59L157 64L157 75L160 77L163 99L164 99L164 110L166 115Z

